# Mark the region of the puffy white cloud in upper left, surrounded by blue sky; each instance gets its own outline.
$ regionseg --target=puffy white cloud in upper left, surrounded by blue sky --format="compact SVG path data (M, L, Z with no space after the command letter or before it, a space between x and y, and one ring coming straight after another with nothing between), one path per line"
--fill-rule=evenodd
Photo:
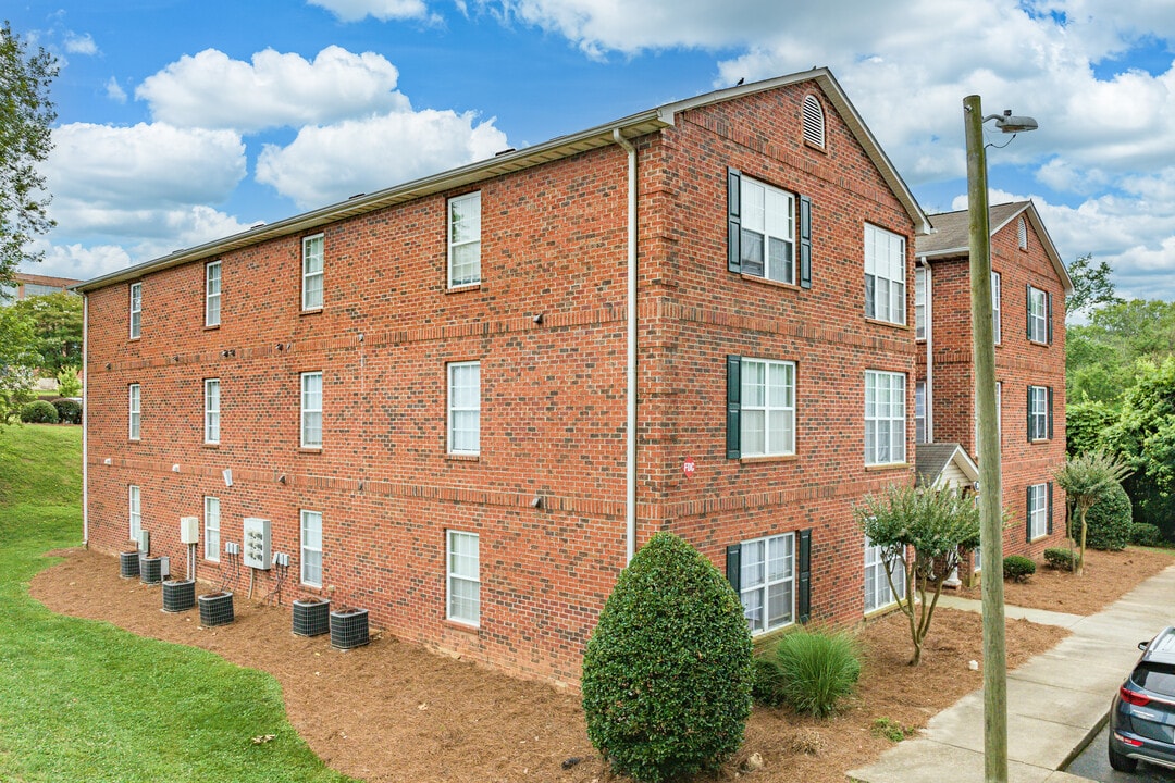
M398 79L383 55L337 46L313 61L266 49L244 62L204 49L148 76L135 97L149 103L159 122L251 133L407 109Z

